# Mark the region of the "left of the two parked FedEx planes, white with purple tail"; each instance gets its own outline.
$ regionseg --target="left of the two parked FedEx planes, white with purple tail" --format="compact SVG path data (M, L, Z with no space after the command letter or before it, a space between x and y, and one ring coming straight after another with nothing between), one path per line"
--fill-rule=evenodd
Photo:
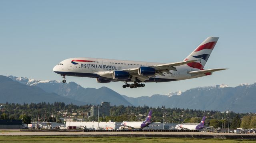
M152 110L149 111L145 121L124 121L120 124L119 129L143 129L151 123Z

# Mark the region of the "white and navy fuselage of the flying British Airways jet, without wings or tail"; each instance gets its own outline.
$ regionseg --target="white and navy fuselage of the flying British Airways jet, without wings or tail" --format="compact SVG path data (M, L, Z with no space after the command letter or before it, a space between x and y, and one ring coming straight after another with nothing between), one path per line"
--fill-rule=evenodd
M76 62L74 60L84 60L88 62ZM53 69L58 74L64 74L67 76L81 76L81 77L92 77L92 78L104 78L112 81L119 81L112 78L111 75L99 75L98 72L118 71L122 69L132 69L138 67L148 67L152 65L159 65L162 63L151 63L151 62L140 62L140 61L124 61L114 59L96 59L96 58L70 58L61 61ZM170 73L164 72L164 76L156 75L150 80L144 82L167 82L175 80L184 80L189 78L197 78L206 76L206 74L189 74L188 71L198 71L196 68L189 67L188 65L176 66L177 71L170 71ZM132 81L128 81L132 82Z

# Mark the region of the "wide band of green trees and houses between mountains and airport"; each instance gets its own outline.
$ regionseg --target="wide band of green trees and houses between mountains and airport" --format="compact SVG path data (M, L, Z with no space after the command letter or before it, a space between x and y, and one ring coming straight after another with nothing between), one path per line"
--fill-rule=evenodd
M1 104L0 104L1 105ZM2 104L4 108L0 112L0 119L23 119L24 123L38 121L61 122L61 118L68 118L72 113L77 116L72 117L73 121L82 118L84 121L98 121L98 117L87 117L86 113L90 111L92 105L77 106L74 104L64 104L63 102L54 102L52 104L30 103L30 104ZM180 108L152 108L149 106L110 106L110 116L100 117L99 121L143 121L146 119L149 110L152 110L152 121L166 123L200 123L203 116L206 116L206 126L215 128L228 127L228 112L193 110ZM68 113L66 116L63 112ZM165 113L164 113L165 112ZM252 113L234 113L230 111L230 128L256 128L256 116Z

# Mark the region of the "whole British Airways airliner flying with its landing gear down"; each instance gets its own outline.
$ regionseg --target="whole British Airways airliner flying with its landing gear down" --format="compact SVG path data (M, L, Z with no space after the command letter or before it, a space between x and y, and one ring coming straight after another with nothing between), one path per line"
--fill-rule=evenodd
M66 82L66 76L96 78L99 83L121 81L123 88L144 87L143 82L169 82L211 75L225 69L204 69L218 37L208 37L184 61L151 63L114 59L70 58L53 68ZM132 82L128 84L128 82Z

